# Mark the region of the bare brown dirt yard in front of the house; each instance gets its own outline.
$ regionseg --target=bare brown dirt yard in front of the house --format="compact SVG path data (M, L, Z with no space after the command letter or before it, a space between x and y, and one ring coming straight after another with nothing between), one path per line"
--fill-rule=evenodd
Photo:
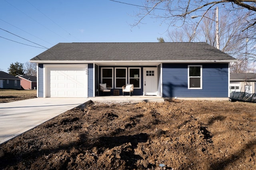
M256 169L256 104L92 103L0 145L0 169Z

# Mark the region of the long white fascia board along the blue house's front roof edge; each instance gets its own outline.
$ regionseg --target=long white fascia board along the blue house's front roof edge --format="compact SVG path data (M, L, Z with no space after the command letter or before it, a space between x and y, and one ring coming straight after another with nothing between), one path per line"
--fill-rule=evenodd
M30 60L30 63L231 63L238 62L238 60L137 60L137 61L44 61L44 60Z

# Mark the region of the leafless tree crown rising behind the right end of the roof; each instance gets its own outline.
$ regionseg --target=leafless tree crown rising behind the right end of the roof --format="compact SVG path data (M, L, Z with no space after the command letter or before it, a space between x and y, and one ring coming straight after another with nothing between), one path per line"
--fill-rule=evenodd
M216 21L215 10L212 14L205 14L198 23L184 24L176 30L169 31L168 37L172 42L206 42L216 47ZM254 70L253 63L256 61L255 33L241 31L244 27L244 18L237 19L233 14L226 15L220 12L219 41L220 50L240 60L233 64L231 72L248 72ZM250 33L250 34L249 34ZM252 37L252 38L248 38ZM248 40L248 41L246 41Z

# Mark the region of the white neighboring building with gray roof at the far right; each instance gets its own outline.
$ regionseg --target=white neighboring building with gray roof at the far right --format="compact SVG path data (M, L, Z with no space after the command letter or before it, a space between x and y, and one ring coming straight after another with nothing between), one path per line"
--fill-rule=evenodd
M230 92L256 93L256 74L231 73Z

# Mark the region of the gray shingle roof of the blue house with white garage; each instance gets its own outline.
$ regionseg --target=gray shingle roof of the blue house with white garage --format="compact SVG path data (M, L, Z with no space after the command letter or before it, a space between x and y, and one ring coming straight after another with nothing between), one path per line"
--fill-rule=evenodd
M31 61L236 60L207 43L58 43Z

